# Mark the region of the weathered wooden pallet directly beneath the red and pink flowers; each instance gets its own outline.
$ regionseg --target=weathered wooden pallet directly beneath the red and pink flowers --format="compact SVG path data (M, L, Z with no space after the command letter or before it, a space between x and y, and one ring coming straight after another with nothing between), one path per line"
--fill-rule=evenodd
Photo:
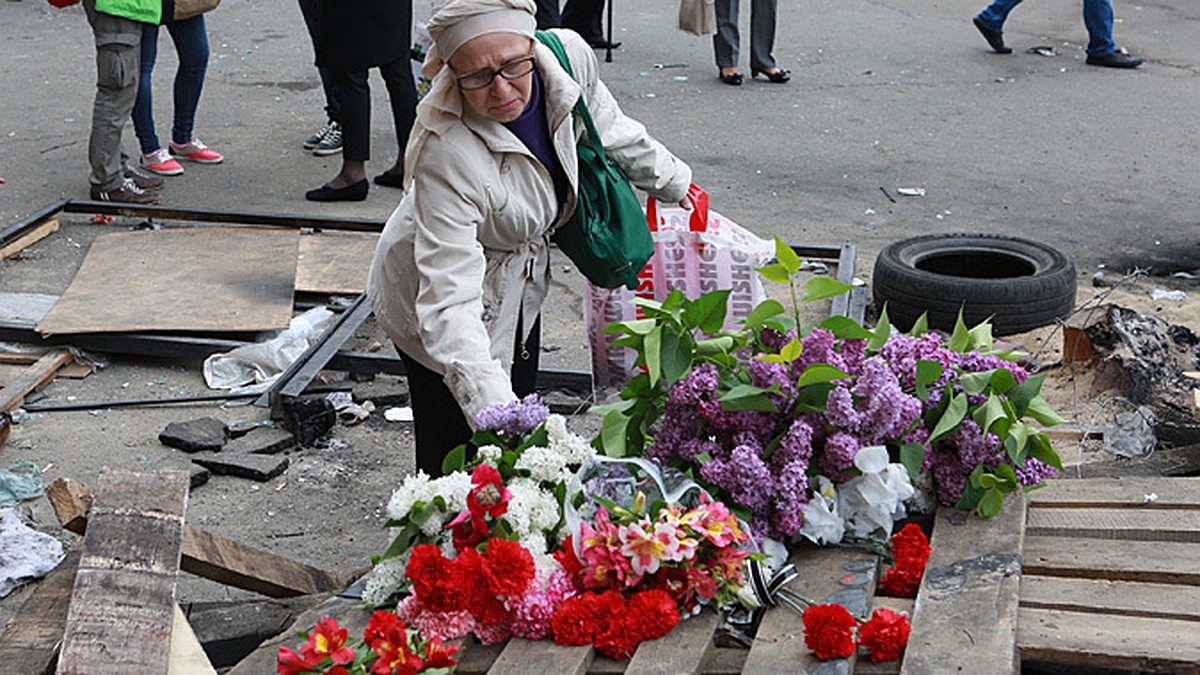
M1009 500L1002 514L983 520L954 509L938 513L926 578L917 601L875 597L876 556L858 549L804 548L792 557L800 575L791 589L817 602L840 602L865 619L876 607L906 611L913 637L901 662L870 663L860 652L844 662L818 662L804 646L804 626L791 609L769 609L750 649L720 646L718 616L704 613L682 622L660 640L643 643L629 661L613 661L590 646L560 647L550 640L512 639L502 645L462 644L463 675L529 673L691 674L898 673L972 675L1018 671L1016 587L1025 504ZM278 645L296 647L296 631L334 616L352 634L361 634L368 613L355 601L331 598L298 617L293 629L265 643L228 675L258 675L275 667Z

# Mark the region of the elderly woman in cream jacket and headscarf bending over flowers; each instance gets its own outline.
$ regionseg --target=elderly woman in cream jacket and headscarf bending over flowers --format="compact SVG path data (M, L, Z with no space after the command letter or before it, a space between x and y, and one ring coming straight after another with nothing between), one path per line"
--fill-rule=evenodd
M550 235L574 211L582 96L630 181L686 205L691 169L622 113L592 48L556 30L575 79L534 36L534 0L449 0L430 18L433 79L367 293L408 374L416 464L431 476L475 414L533 392Z

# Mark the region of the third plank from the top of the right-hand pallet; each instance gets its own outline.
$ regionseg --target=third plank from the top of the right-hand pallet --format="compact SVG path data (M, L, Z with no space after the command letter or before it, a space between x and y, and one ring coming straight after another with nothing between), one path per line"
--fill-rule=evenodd
M1195 544L1026 537L1026 574L1200 586Z

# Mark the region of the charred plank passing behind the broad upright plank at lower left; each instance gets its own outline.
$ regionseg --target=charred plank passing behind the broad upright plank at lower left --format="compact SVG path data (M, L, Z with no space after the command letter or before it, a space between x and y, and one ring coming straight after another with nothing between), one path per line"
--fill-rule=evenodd
M91 491L86 485L59 478L46 488L46 496L62 527L79 534L86 531L91 503ZM272 598L340 591L347 585L332 572L240 544L193 525L184 526L180 568Z

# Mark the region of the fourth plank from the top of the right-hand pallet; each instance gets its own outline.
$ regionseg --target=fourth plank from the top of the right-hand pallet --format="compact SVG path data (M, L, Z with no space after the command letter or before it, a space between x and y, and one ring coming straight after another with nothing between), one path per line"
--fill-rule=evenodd
M1200 587L1026 573L1021 607L1200 621Z

